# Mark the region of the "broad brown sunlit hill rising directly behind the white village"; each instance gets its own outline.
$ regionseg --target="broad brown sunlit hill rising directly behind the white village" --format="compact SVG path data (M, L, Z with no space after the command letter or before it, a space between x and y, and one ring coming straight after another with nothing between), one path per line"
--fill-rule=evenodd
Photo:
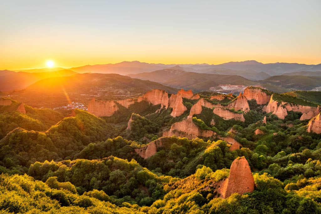
M101 100L136 98L152 89L174 93L177 89L160 83L132 79L119 74L84 73L69 77L40 80L24 90L10 94L32 107L60 107L77 101L88 104L96 97Z

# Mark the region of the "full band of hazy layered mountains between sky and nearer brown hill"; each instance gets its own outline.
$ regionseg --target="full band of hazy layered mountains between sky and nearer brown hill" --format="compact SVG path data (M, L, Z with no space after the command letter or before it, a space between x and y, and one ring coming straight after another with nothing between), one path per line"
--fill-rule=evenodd
M317 78L321 77L321 64L263 64L254 60L218 65L150 64L124 61L116 64L85 65L69 69L40 68L18 72L4 70L0 71L0 91L22 90L46 78L66 77L77 73L115 73L158 82L164 87L195 91L209 90L220 84L262 85L277 92L319 90L321 85L321 81Z

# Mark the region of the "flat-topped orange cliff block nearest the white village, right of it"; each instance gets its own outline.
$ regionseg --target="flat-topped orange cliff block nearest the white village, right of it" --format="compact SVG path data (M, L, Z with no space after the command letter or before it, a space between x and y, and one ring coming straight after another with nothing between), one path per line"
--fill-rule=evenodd
M87 111L97 117L101 117L112 116L117 110L118 107L114 101L96 101L95 98L93 98L89 102Z

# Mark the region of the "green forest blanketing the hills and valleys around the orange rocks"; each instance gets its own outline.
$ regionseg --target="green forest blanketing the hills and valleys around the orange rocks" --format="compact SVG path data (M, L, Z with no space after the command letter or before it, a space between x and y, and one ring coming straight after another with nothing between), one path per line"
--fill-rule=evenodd
M320 105L313 93L295 94L273 98ZM213 95L200 93L211 104L236 99ZM193 99L183 98L187 110L178 117L146 101L117 104L100 118L27 105L24 114L12 102L0 106L0 213L321 213L321 134L307 132L300 112L279 119L252 99L247 112L229 109L243 114L241 122L202 106L191 120L214 134L189 139L163 133L189 116ZM231 150L224 139L241 147ZM151 143L155 152L145 158L140 152ZM255 190L221 198L213 186L229 177L238 157L246 158Z

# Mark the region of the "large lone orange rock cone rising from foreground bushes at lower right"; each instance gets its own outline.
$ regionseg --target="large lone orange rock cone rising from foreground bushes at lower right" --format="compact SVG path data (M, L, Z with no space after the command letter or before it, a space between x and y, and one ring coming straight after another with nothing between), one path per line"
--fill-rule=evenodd
M221 198L228 198L233 193L249 193L254 191L254 178L247 160L236 158L230 168L230 175L219 189Z

